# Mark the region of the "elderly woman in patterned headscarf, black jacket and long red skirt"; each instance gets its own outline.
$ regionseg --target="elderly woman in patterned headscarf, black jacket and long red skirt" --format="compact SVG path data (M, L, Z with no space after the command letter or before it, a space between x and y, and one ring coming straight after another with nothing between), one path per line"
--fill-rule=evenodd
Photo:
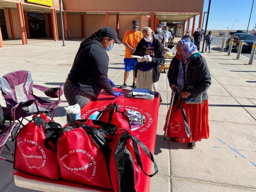
M202 98L202 103L183 103L191 137L176 138L176 141L188 143L189 149L194 149L195 142L209 138L207 89L211 85L211 75L207 62L192 42L187 39L180 40L167 76L172 92L178 90L181 93L177 102L192 101L200 96Z

